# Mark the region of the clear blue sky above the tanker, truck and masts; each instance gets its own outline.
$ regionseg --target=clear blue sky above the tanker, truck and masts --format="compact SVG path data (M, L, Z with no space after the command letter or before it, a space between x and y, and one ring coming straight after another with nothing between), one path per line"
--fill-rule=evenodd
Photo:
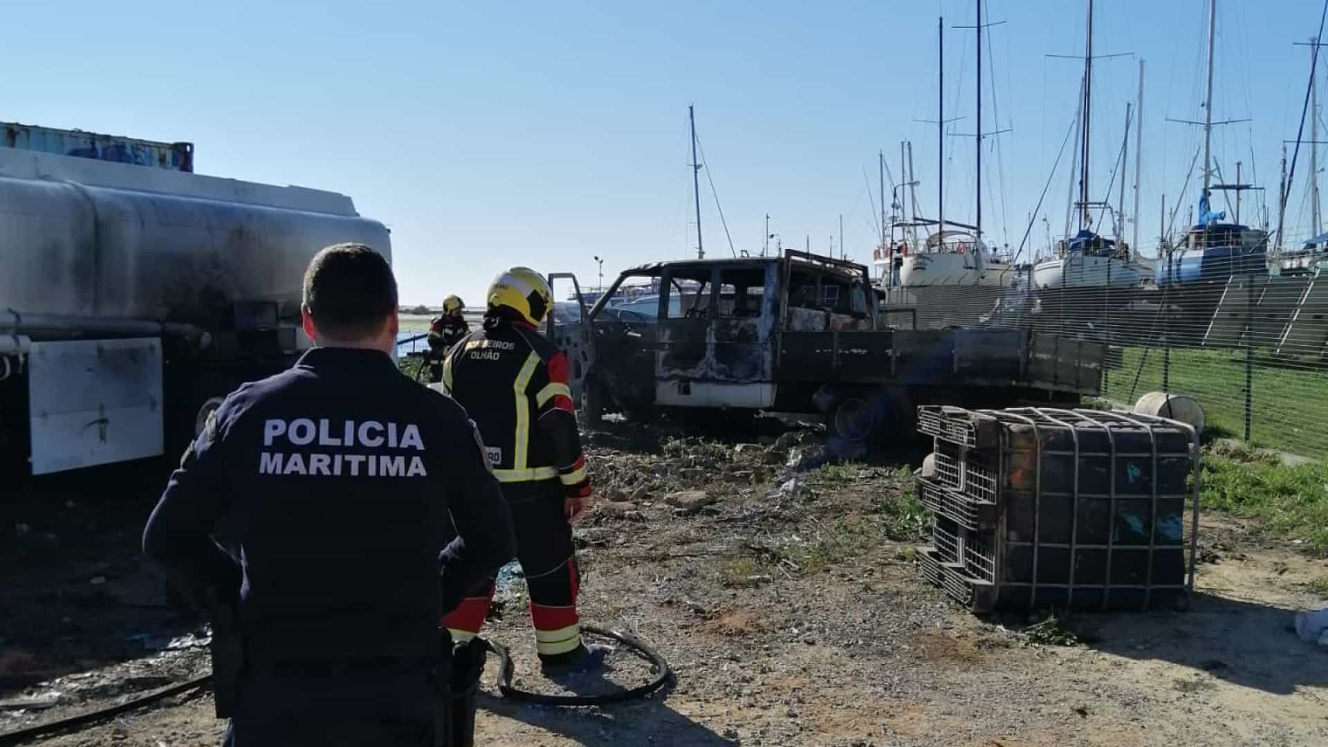
M592 255L611 276L691 254L689 102L738 250L760 249L766 213L785 245L810 235L825 250L843 214L850 255L869 261L875 154L884 149L898 179L904 138L923 211L935 213L935 128L914 120L935 117L936 17L972 24L971 1L495 5L66 0L57 12L21 3L5 9L0 120L189 140L202 173L351 194L392 229L410 303L448 292L482 303L510 265L594 283ZM1139 243L1151 251L1158 201L1166 193L1174 203L1202 142L1163 118L1203 118L1206 0L1097 5L1096 51L1134 57L1096 65L1093 191L1105 195L1143 57ZM1070 0L987 8L984 20L1005 24L989 29L984 122L1012 132L988 141L984 227L1017 245L1081 73L1045 56L1082 52L1085 9ZM1214 117L1254 121L1219 128L1214 152L1230 178L1235 161L1246 175L1254 162L1274 222L1282 141L1295 137L1308 70L1307 48L1292 43L1315 33L1320 8L1219 1ZM947 116L964 116L954 129L969 133L975 37L946 35ZM947 217L969 221L973 144L948 141ZM1130 149L1133 162L1133 138ZM1308 231L1305 157L1288 234ZM706 253L728 254L705 171L701 183ZM1038 213L1053 233L1068 187L1062 163ZM1250 222L1248 207L1242 217ZM1045 235L1038 222L1033 249Z

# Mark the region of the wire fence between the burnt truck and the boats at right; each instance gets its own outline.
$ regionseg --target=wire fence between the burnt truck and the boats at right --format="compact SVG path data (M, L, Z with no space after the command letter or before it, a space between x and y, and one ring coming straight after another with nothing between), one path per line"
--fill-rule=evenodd
M1102 396L1133 405L1146 392L1189 395L1208 437L1307 457L1328 456L1328 276L1270 276L1203 266L1204 278L1161 286L1036 287L1031 271L1000 282L887 288L896 326L1031 328L1104 342ZM907 315L900 316L900 311Z

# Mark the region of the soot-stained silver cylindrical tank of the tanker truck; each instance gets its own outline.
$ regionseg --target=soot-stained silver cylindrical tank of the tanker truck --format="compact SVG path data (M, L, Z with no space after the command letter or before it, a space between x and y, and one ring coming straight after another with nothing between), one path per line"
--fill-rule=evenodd
M382 223L335 193L0 153L0 311L211 327L275 302L290 319L309 258L339 242L390 261Z

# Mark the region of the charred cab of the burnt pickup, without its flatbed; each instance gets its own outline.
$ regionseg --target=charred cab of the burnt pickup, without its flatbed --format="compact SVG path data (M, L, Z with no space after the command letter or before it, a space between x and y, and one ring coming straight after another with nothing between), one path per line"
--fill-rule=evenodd
M637 294L652 307L639 299L615 304L624 287L653 291ZM591 411L622 412L807 411L805 387L781 381L782 334L875 331L874 307L866 267L814 254L633 267L588 314L595 358L584 401Z

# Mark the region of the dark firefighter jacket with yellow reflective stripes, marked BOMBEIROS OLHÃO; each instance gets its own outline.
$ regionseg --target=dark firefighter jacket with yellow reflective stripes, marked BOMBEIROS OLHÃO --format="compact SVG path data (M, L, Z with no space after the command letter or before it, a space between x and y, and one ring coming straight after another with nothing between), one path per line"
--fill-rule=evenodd
M498 481L556 480L590 494L567 355L534 327L499 322L452 348L442 385L479 424Z

